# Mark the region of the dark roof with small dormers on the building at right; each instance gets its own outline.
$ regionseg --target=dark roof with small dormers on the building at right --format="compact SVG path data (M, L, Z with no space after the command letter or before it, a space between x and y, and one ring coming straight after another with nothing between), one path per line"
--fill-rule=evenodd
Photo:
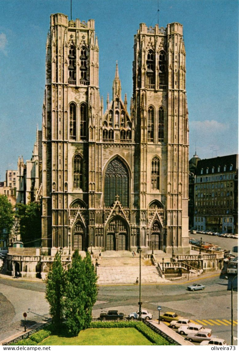
M230 166L232 165L232 169ZM218 166L220 166L220 172L218 172ZM224 166L226 166L226 171L224 171ZM207 158L203 160L198 160L197 168L195 170L196 175L200 174L212 174L212 168L214 167L214 173L226 173L228 171L236 171L238 169L238 154L218 156L214 158ZM208 173L206 170L208 168ZM203 169L203 173L201 170Z

